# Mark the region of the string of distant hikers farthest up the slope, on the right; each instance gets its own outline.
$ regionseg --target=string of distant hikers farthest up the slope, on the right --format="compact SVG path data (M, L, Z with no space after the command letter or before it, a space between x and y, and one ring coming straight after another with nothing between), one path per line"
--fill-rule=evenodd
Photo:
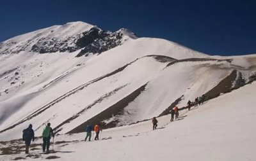
M198 106L200 104L203 104L205 101L205 95L200 96L199 98L196 97L195 102L191 102L190 100L188 101L187 105L188 105L188 111L190 110L190 108L192 106ZM170 122L173 122L174 119L174 115L175 115L175 120L177 120L177 118L179 118L179 108L177 106L175 106L174 108L171 109L170 111L171 114L171 120ZM152 118L152 123L153 123L153 130L156 129L157 127L157 119L156 117Z

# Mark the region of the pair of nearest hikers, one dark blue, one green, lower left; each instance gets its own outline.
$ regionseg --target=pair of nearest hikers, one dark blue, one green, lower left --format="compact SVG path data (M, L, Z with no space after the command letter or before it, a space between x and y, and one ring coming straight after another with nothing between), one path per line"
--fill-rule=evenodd
M51 123L47 123L42 134L43 152L49 153L51 136L54 138L54 133L51 128ZM34 130L32 129L32 124L29 124L28 128L23 130L22 139L23 141L25 141L25 144L26 144L25 153L28 154L31 141L35 141L35 134L34 134ZM46 151L45 151L45 148L46 148Z

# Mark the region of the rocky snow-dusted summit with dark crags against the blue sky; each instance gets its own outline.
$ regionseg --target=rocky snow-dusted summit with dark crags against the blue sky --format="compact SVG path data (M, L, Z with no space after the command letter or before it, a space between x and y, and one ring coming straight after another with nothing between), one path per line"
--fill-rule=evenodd
M84 30L80 28L84 26ZM60 30L63 28L62 30ZM79 29L75 34L66 34ZM70 31L68 31L70 30ZM83 22L68 23L61 26L49 27L35 34L26 37L23 41L9 39L0 44L0 54L35 52L35 53L55 53L55 52L76 52L81 50L77 57L82 55L102 53L116 46L122 45L125 36L136 39L136 35L127 29L120 29L115 32L103 31L97 26L90 26ZM24 37L26 34L20 37ZM17 36L19 39L19 36Z

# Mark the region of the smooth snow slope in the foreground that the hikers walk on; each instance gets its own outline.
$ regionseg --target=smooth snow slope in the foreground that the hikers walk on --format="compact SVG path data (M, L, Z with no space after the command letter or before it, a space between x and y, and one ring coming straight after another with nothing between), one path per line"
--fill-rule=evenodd
M38 139L30 158L23 151L2 155L1 159L45 160L55 156L60 157L55 160L253 161L256 160L255 91L253 82L191 111L183 111L179 120L172 123L170 115L161 116L157 118L157 130L152 130L152 123L147 121L103 130L100 141L84 143L84 133L56 136L57 153L49 155L40 154L42 141ZM10 143L1 144L6 146Z

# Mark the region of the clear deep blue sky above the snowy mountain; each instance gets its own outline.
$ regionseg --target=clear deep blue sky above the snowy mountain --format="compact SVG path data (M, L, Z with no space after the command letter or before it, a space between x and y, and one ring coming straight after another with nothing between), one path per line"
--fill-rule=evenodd
M0 41L74 21L109 31L124 27L211 55L256 53L255 0L0 1Z

